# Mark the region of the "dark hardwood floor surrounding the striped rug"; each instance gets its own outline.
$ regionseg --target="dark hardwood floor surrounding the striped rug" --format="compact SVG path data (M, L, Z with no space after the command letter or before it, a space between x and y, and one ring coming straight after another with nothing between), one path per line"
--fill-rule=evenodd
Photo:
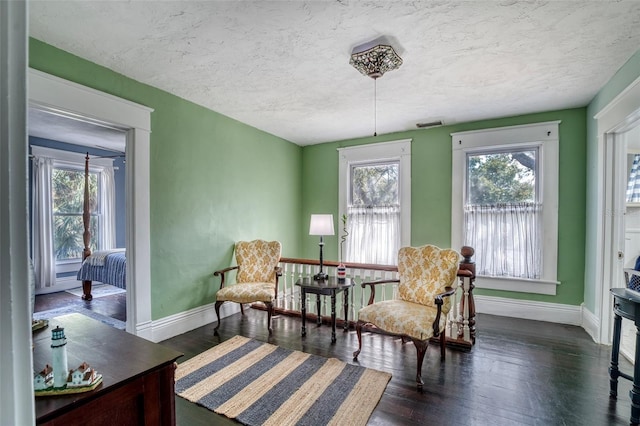
M245 312L244 317L224 318L220 337L213 335L212 323L161 344L183 352L185 356L178 360L183 362L241 334L353 363L352 353L358 346L353 330L339 331L338 341L332 345L329 326L308 326L303 339L299 318L278 316L273 319L270 337L266 313ZM413 344L363 334L358 364L393 374L369 424L629 424L631 383L620 379L618 399L609 399L611 348L593 343L582 328L482 314L477 324L477 342L471 352L447 349L447 359L441 363L437 344L430 345L422 369L423 393L415 387ZM620 366L624 372L633 371L622 357ZM176 397L176 410L181 426L237 424L180 397Z

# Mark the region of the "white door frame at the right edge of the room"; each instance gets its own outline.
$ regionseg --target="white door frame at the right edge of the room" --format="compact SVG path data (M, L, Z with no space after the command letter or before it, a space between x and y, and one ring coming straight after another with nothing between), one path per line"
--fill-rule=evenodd
M595 315L598 327L595 340L610 344L612 339L613 305L609 290L621 283L622 268L618 253L624 253L624 199L622 195L623 171L626 153L618 133L633 127L640 120L640 77L598 112L596 120L598 138L596 232L596 291ZM602 188L602 189L600 189Z

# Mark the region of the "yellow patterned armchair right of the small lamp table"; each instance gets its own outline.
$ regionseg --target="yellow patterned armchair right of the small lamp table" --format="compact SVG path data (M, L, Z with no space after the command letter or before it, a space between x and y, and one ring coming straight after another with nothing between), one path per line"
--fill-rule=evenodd
M398 252L398 279L362 283L371 288L369 304L358 312L356 333L358 350L362 349L362 327L373 325L384 334L413 341L418 353L416 382L422 389L422 363L429 340L440 337L440 356L445 356L446 318L451 309L451 296L456 291L460 255L455 250L433 245L403 247ZM398 299L373 303L375 286L398 282Z

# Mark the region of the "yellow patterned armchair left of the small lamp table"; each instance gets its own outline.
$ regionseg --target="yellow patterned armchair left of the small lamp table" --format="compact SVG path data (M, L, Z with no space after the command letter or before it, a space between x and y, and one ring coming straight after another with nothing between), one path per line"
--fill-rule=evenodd
M278 296L278 278L282 275L278 262L282 247L278 241L239 241L236 243L236 266L215 271L214 276L220 276L220 290L216 294L216 317L218 324L214 334L218 334L220 327L220 306L224 302L240 304L244 315L244 303L262 302L267 307L267 327L269 334L271 316L273 315L273 301ZM227 285L226 275L237 270L236 283Z

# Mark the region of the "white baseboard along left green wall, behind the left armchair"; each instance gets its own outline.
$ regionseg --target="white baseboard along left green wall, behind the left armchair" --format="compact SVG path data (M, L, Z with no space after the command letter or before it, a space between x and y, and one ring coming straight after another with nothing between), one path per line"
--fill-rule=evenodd
M169 315L159 320L154 320L151 324L151 335L148 339L153 342L160 342L215 322L217 318L214 306L215 303L210 303L175 315ZM239 304L225 303L220 307L220 318L226 318L238 312L240 312Z

